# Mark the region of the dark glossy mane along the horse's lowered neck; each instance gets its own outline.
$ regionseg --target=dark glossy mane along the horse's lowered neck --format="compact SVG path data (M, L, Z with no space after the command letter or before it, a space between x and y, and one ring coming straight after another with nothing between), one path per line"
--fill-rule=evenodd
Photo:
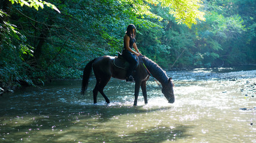
M153 77L155 77L161 83L165 83L168 81L168 76L166 72L162 70L162 68L158 66L158 64L156 64L154 61L150 60L144 55L140 57Z

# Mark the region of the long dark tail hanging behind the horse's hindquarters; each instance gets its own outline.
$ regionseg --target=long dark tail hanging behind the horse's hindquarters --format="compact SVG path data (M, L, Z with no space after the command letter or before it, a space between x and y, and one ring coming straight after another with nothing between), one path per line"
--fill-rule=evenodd
M88 86L89 78L92 73L92 64L94 63L94 60L91 60L88 64L86 64L85 69L83 70L83 80L82 80L82 89L81 94L84 95Z

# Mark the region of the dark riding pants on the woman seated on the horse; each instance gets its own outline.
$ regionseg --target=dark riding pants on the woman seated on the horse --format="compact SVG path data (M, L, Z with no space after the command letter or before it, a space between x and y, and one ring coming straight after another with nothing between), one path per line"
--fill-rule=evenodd
M125 58L125 60L128 61L129 67L127 70L127 77L131 76L132 72L135 70L135 66L137 64L137 60L134 57L134 55L131 54L131 52L127 51L127 49L124 49L122 51L122 55Z

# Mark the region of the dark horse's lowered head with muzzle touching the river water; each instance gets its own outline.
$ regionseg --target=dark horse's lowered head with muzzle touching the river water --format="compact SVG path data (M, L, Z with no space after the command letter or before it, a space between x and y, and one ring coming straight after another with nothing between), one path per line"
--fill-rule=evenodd
M168 100L170 103L174 103L174 94L173 94L173 86L174 83L171 80L171 77L168 79L167 85L162 86L162 94L164 94L165 98Z

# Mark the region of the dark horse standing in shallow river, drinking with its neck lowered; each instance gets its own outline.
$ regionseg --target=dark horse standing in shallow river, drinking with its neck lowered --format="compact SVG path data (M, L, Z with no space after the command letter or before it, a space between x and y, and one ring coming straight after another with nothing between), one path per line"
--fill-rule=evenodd
M119 67L116 67L114 62L115 57L111 56L103 56L95 58L94 60L90 61L86 66L85 70L83 71L83 81L82 81L82 91L81 94L84 95L88 86L89 77L92 72L92 68L94 69L94 74L97 80L97 83L94 88L94 104L97 103L97 95L98 92L103 95L106 102L109 103L109 98L104 94L103 89L109 82L111 77L114 77L116 79L125 80L126 71L124 69L121 69ZM135 80L135 99L134 99L134 105L137 105L138 100L138 92L141 87L144 102L147 104L147 93L146 93L146 82L149 79L149 72L152 74L155 79L157 79L161 85L162 85L162 94L164 94L165 98L167 98L168 102L173 103L174 102L174 94L173 94L173 82L171 78L167 77L167 74L164 70L161 69L161 67L158 66L155 62L150 60L149 58L145 56L139 56L138 57L138 67L132 73L132 76ZM149 72L146 70L144 65L147 67Z

